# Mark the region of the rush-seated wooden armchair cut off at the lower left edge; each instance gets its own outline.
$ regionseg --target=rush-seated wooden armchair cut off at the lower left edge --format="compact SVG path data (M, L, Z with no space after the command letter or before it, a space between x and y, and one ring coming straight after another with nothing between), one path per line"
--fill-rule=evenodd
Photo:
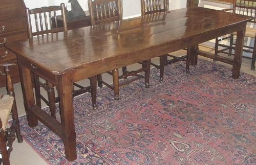
M20 135L15 94L9 69L9 66L12 65L15 64L0 64L0 67L4 67L5 70L5 72L0 71L0 74L6 75L8 93L8 95L0 94L0 150L2 155L2 158L0 158L0 164L3 162L4 165L10 164L9 157L12 151L12 144L15 140L15 133L18 143L23 142L23 137ZM10 128L7 128L10 115L12 115L12 125Z

